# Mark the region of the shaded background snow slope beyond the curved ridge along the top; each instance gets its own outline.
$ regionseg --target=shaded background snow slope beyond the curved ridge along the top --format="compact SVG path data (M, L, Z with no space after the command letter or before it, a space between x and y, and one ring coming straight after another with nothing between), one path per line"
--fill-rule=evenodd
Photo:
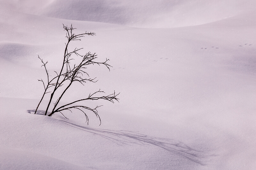
M177 0L31 0L5 6L22 13L69 20L104 22L142 28L195 26L253 11L256 2Z

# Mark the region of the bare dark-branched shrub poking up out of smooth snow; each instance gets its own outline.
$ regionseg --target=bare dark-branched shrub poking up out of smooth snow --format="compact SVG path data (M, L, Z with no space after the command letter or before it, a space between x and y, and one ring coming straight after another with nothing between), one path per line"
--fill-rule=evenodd
M110 71L110 67L112 67L112 66L108 64L108 61L109 61L108 59L106 59L103 62L95 61L95 59L97 58L97 55L95 53L87 52L84 55L81 55L80 50L83 48L75 48L74 50L69 51L69 44L72 41L81 41L81 38L84 37L85 35L94 36L95 33L85 32L85 33L76 35L75 33L73 33L73 31L76 28L73 28L72 25L70 27L63 25L63 28L66 31L67 42L65 43L65 50L64 50L64 55L63 55L63 60L62 60L62 65L61 65L60 71L59 72L54 71L56 74L55 76L53 76L52 78L49 77L49 73L46 68L46 64L48 63L48 61L44 62L43 59L40 58L38 55L38 58L41 60L41 63L43 63L42 67L44 67L44 70L46 72L47 81L45 81L43 79L38 80L38 81L42 82L44 85L44 93L36 107L35 114L36 114L37 109L40 106L42 100L44 99L45 95L47 93L50 93L51 95L48 100L48 105L45 109L44 115L47 115L47 113L50 109L50 105L52 104L52 100L54 99L54 97L56 98L56 96L57 96L57 100L53 103L53 108L49 112L50 114L48 114L47 116L52 116L54 113L57 113L57 112L60 112L63 115L62 111L64 111L64 110L68 110L70 112L72 112L72 110L77 110L77 111L84 113L86 122L87 122L87 124L89 124L89 118L86 114L86 110L93 112L100 119L100 116L98 115L98 111L97 111L97 108L100 106L89 107L89 106L85 105L84 101L102 99L102 100L108 100L108 101L114 103L115 100L116 101L119 100L117 98L117 95L119 93L116 93L114 91L114 93L112 93L112 94L104 95L105 94L104 91L98 90L96 92L90 93L85 98L82 98L80 100L75 100L75 101L69 102L64 105L60 105L60 100L62 99L64 94L67 92L67 90L71 87L71 85L73 83L78 82L78 83L84 85L86 82L95 83L98 81L98 80L95 80L96 78L90 78L90 76L86 70L88 65L95 65L95 64L96 65L104 65L108 68L109 71ZM71 60L77 60L73 56L81 57L81 60L79 61L78 64L71 65ZM100 120L100 124L101 124L101 120Z

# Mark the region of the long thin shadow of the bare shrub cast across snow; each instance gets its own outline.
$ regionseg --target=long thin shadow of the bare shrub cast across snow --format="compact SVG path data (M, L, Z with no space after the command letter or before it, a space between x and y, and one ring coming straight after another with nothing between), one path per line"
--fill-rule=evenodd
M125 130L95 129L95 128L76 125L74 123L66 122L63 120L60 120L60 121L74 128L81 129L81 130L93 133L95 135L99 135L100 137L104 137L119 145L152 144L160 148L163 148L169 152L172 152L178 156L181 156L185 159L196 162L200 165L207 165L205 163L207 162L207 159L212 156L216 156L216 155L206 155L204 152L192 149L188 145L174 139L152 137L152 136L143 135L140 133L125 131Z

